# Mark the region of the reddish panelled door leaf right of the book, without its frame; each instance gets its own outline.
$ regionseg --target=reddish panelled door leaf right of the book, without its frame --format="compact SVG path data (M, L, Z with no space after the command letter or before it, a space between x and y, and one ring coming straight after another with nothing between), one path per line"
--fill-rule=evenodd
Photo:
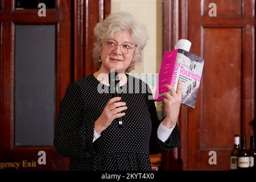
M254 32L246 27L255 20L249 12L245 18L200 18L199 3L189 3L188 38L191 52L204 57L205 66L196 109L188 111L188 151L193 156L188 169L229 169L233 135L249 139L254 118L254 46L249 38ZM211 150L217 152L217 165L208 163Z

